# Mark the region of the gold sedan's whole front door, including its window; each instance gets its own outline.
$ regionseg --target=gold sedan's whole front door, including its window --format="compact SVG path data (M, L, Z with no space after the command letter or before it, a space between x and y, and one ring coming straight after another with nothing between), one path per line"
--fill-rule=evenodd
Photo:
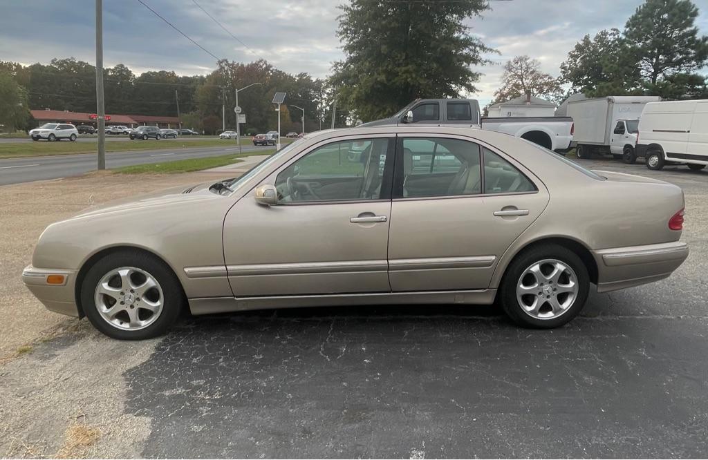
M263 181L278 205L241 198L224 222L234 295L389 292L393 149L389 137L330 140Z

